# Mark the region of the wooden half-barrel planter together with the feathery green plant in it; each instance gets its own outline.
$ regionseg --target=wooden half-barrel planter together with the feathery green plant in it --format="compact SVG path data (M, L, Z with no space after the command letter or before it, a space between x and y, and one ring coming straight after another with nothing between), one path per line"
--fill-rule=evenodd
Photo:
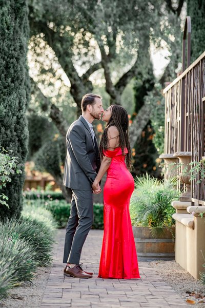
M130 215L139 259L174 259L175 209L171 202L179 195L176 180L160 181L149 175L136 178Z

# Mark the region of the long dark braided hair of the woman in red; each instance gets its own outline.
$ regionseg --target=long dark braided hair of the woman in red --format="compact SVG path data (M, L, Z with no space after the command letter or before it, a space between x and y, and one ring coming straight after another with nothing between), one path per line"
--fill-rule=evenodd
M122 106L112 105L111 106L111 118L106 125L106 128L101 137L99 150L100 157L103 159L104 154L103 150L108 149L108 128L110 126L116 126L119 131L119 146L122 150L122 154L125 155L125 148L128 149L128 154L126 155L126 165L129 170L132 168L132 160L131 160L131 148L130 148L130 140L129 140L129 118L128 113Z

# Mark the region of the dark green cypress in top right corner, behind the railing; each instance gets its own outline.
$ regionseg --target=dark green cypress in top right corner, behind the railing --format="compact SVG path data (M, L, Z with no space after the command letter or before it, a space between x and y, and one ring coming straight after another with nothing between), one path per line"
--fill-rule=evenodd
M191 62L195 61L204 52L205 37L205 1L188 0L187 15L191 17Z

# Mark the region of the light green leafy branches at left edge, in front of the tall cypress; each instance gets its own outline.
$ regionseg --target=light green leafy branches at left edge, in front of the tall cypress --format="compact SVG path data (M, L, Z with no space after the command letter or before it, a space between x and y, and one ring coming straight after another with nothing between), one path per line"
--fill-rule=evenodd
M10 150L10 152L12 152ZM18 164L17 157L11 157L8 151L5 149L1 149L0 145L0 191L2 187L6 186L7 182L11 182L11 175L22 174L22 170L20 170L22 165ZM0 204L5 205L9 208L7 201L9 200L8 196L5 194L0 194Z

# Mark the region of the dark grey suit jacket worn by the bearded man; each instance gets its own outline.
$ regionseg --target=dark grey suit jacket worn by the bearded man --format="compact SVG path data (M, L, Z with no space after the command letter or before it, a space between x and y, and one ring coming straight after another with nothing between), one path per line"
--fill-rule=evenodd
M69 127L66 144L63 185L73 189L90 190L100 167L100 158L97 142L93 141L90 127L81 115Z

